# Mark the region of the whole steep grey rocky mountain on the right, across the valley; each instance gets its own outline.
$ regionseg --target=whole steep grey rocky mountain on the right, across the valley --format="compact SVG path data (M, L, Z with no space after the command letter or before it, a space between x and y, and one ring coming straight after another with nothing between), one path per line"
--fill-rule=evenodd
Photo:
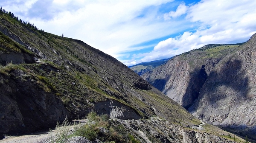
M255 139L255 53L256 34L175 56L142 77L195 117Z

